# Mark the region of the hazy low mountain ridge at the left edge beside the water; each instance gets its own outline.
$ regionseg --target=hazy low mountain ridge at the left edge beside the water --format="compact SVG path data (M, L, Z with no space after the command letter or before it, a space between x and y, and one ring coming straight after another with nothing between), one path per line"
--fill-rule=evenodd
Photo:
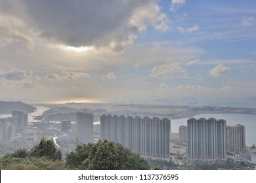
M11 114L12 110L24 110L26 112L33 112L37 108L20 101L0 101L0 114Z

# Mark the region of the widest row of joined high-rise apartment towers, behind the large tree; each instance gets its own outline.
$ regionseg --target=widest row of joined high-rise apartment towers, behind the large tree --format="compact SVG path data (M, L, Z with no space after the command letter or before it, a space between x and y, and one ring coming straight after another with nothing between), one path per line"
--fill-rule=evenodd
M100 139L122 144L142 156L169 158L171 122L167 118L100 116Z

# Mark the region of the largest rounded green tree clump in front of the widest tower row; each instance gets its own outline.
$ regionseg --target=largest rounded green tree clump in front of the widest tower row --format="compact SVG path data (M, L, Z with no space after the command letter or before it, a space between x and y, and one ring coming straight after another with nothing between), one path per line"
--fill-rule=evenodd
M121 144L98 141L95 144L77 146L74 152L66 156L67 169L150 169L148 161L140 158Z

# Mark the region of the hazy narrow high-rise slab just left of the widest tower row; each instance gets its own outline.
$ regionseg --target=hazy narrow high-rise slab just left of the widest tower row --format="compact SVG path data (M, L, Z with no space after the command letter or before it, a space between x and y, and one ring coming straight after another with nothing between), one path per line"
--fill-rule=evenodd
M76 112L77 139L85 144L94 142L93 114L83 110Z

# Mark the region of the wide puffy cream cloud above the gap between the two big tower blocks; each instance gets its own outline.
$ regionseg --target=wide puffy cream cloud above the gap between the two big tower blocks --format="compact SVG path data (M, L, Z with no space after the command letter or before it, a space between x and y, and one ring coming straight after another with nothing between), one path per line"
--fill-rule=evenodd
M150 76L152 78L169 78L173 73L183 73L186 69L182 67L182 63L164 63L162 65L156 65L151 69Z

